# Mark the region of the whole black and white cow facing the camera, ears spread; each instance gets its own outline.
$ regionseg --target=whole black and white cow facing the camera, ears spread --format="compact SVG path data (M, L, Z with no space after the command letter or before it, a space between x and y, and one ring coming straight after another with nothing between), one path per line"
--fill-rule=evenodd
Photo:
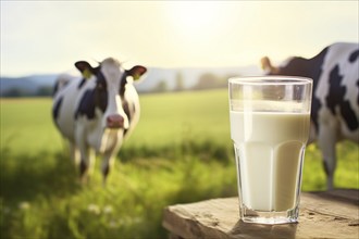
M138 95L133 80L146 67L126 71L117 60L108 58L92 67L75 63L82 78L58 77L52 116L62 136L69 140L72 156L86 179L94 165L94 150L103 155L103 181L125 137L139 120Z

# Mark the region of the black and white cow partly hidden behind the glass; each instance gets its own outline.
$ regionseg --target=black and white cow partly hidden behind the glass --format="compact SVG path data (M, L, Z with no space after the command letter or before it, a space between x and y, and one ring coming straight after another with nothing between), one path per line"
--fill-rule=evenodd
M359 45L334 43L311 59L289 58L281 66L261 60L269 75L305 76L313 79L310 142L318 140L333 189L335 144L342 139L359 142Z

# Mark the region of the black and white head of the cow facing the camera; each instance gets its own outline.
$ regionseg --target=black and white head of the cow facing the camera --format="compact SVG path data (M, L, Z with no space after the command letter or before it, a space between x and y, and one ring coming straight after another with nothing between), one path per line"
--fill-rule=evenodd
M95 111L100 111L102 126L127 129L129 118L125 91L133 81L128 77L139 79L146 73L146 67L136 65L131 70L123 70L113 58L103 60L97 67L85 61L76 62L75 66L82 72L84 79L96 80L91 100Z

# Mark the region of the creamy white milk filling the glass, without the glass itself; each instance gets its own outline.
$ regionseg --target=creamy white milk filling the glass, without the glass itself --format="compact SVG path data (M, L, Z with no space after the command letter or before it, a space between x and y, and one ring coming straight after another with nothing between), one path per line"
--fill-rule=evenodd
M244 204L258 211L296 206L309 113L231 111Z

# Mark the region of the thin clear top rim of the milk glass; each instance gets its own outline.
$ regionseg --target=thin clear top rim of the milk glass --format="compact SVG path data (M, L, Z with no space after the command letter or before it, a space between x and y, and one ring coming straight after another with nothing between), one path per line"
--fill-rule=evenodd
M284 76L284 75L264 75L264 76L235 76L228 79L230 84L239 85L306 85L312 84L313 80L302 76Z

